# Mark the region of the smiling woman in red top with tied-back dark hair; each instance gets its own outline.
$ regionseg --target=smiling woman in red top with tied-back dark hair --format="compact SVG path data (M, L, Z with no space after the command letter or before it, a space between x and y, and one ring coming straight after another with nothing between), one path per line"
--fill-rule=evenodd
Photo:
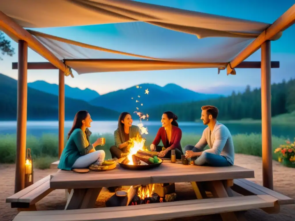
M171 150L175 150L176 159L181 159L183 155L180 145L182 132L176 120L177 116L171 111L166 111L162 115L162 127L150 145L151 151L160 151L159 157L171 158ZM164 151L162 151L162 146L158 146L161 140L166 148Z

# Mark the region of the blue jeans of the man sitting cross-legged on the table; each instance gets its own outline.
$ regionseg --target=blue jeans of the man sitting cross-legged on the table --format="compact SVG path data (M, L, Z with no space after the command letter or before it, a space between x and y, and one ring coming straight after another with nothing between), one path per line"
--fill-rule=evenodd
M184 151L192 150L194 152L201 152L200 149L193 145L186 145ZM203 152L201 156L193 158L196 165L204 166L231 166L224 156Z

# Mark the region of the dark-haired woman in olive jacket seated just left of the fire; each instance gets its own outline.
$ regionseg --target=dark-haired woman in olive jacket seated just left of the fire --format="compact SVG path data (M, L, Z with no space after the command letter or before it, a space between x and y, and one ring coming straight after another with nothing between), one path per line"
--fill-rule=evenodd
M111 146L110 152L112 158L121 158L121 154L127 153L128 141L139 133L139 127L132 125L132 117L128 112L120 114L118 119L118 128L114 132L115 145Z

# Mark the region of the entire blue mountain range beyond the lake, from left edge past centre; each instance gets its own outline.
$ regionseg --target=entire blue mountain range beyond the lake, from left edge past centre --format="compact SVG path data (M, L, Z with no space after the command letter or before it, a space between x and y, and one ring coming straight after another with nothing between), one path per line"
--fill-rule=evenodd
M146 94L145 90L149 93ZM161 87L141 84L99 95L88 88L81 90L65 85L65 118L72 120L78 110L88 110L95 120L118 119L120 112L144 111L158 105L187 103L218 98L218 94L197 93L176 84ZM17 80L0 74L0 120L16 120ZM28 83L28 120L58 119L58 85L45 81Z

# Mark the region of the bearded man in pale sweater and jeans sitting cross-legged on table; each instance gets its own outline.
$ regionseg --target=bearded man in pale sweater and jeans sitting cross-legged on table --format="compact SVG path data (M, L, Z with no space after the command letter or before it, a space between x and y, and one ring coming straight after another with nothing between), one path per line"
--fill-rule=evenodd
M207 105L201 110L201 120L208 127L195 146L185 146L186 158L194 159L194 164L199 166L232 166L235 160L232 135L226 126L218 123L218 109ZM210 149L203 151L207 145Z

